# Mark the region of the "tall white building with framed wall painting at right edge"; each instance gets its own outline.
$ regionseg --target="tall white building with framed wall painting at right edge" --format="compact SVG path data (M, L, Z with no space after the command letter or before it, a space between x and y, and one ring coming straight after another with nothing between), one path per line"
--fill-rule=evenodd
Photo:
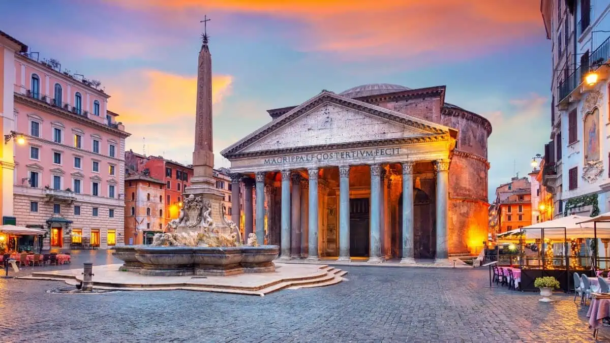
M553 41L551 141L542 184L553 194L554 217L610 211L610 2L543 0L540 9Z

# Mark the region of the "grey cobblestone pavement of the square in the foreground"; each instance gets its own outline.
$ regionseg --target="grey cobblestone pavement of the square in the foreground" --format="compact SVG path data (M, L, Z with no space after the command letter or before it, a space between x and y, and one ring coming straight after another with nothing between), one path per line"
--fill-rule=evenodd
M68 267L87 259L115 262L102 250L73 256ZM0 341L593 341L586 309L573 296L554 294L558 302L547 304L534 293L490 289L487 270L341 268L349 271L348 281L336 286L266 297L188 291L51 294L46 291L66 285L0 279ZM610 341L610 327L601 328L599 341Z

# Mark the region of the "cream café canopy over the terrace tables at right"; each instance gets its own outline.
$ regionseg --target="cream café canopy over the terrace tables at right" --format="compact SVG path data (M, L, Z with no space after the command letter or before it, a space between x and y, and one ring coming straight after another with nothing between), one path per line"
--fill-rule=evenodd
M498 238L511 234L523 234L525 239L545 239L563 240L575 238L610 238L610 228L594 229L593 223L587 223L589 217L581 215L568 215L547 222L536 223L523 228L506 231L498 234Z

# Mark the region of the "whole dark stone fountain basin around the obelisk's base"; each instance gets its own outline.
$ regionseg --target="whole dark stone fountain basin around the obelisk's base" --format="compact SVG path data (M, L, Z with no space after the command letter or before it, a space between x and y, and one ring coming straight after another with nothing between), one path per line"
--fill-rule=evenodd
M132 245L113 253L121 269L151 276L212 275L274 272L277 245L260 247L162 247Z

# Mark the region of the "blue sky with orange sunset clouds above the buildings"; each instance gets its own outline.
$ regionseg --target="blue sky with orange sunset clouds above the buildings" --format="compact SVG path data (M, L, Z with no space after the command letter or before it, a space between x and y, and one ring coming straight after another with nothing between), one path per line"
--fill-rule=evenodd
M99 79L127 149L145 137L147 154L190 163L204 15L216 167L265 110L370 83L447 85L447 102L489 119L490 197L544 154L551 48L537 0L0 1L0 30Z

